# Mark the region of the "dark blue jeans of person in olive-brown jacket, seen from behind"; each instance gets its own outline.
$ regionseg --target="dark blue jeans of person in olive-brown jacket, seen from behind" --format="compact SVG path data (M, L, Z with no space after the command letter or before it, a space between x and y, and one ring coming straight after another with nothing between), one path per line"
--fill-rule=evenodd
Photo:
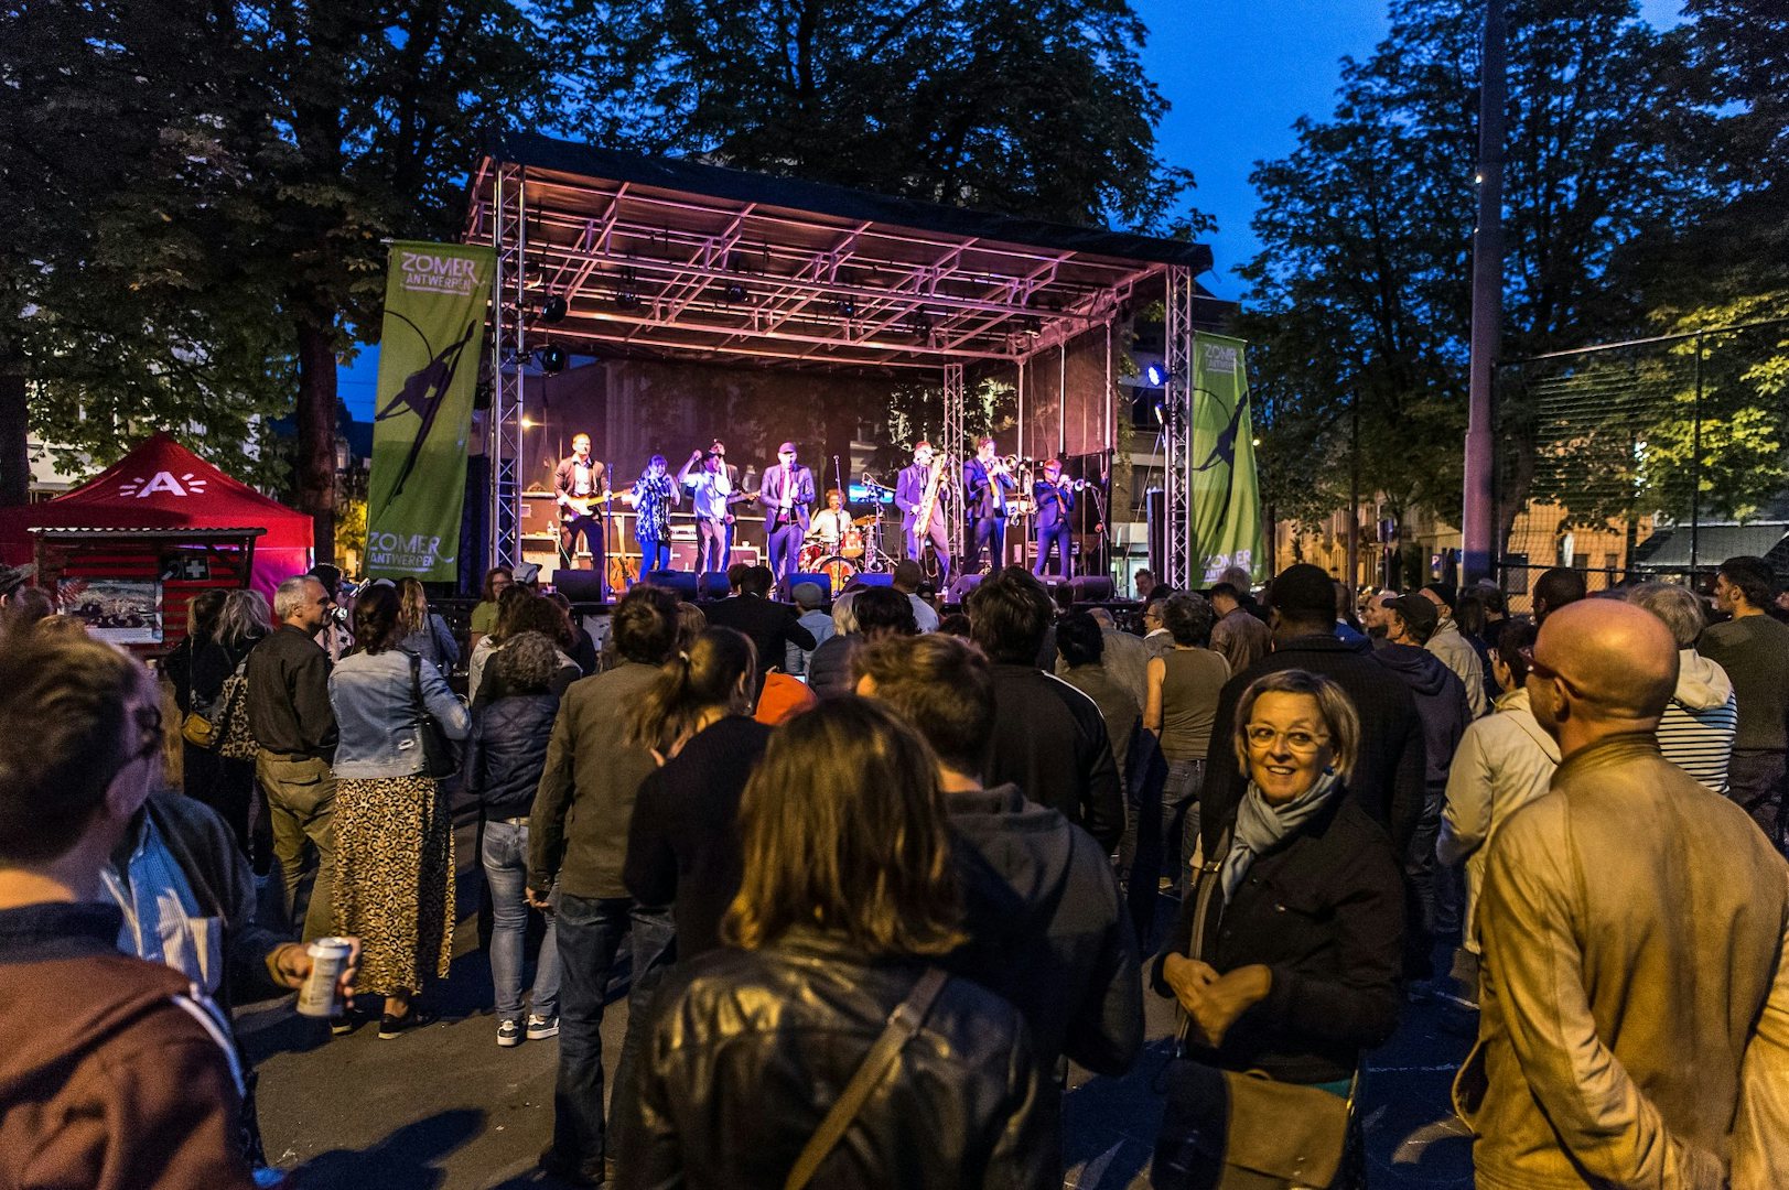
M553 1156L583 1174L603 1172L603 1002L621 939L633 931L633 988L628 997L628 1038L615 1070L614 1113L628 1118L633 1095L632 1059L642 1036L655 979L653 968L673 959L669 909L635 907L626 897L556 895L560 957L560 1067L553 1086Z

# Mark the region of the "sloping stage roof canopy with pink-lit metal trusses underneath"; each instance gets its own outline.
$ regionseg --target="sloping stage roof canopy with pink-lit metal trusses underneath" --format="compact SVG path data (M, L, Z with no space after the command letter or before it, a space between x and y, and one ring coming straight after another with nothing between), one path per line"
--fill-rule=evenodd
M530 134L479 161L465 240L521 242L530 349L852 370L1018 361L1211 267L1200 243Z

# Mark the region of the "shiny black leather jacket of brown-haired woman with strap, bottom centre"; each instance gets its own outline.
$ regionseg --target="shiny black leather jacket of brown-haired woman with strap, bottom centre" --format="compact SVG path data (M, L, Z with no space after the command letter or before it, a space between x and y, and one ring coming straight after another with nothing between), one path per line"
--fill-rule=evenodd
M617 1136L623 1190L782 1186L921 970L814 931L674 968L646 1041L640 1127ZM809 1185L1061 1186L1038 1093L1018 1009L952 979Z

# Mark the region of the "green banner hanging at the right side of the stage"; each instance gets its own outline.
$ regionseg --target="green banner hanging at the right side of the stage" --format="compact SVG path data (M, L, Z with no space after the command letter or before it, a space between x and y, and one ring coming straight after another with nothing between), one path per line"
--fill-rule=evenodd
M1206 583L1240 565L1263 578L1261 489L1254 474L1247 344L1193 335L1193 565Z

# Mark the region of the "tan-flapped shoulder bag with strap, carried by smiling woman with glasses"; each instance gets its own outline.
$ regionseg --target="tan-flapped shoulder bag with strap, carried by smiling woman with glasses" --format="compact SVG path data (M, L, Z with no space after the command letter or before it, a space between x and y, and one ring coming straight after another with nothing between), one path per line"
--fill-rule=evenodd
M1231 834L1193 870L1193 934L1186 957L1202 959L1222 909L1222 868ZM1181 1011L1175 1056L1163 1075L1166 1111L1156 1136L1150 1185L1188 1190L1292 1190L1331 1186L1347 1152L1354 1109L1315 1086L1279 1083L1259 1070L1220 1070L1186 1056Z

